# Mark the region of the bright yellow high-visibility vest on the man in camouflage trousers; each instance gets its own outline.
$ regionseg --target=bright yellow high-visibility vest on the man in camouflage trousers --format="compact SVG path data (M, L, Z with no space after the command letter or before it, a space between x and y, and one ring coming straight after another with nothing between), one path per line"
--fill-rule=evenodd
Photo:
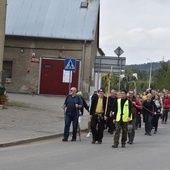
M121 117L121 99L117 100L117 115L116 115L116 121L120 121ZM123 106L123 115L122 115L122 121L127 122L127 119L129 117L129 100L126 100ZM131 118L132 119L132 118Z

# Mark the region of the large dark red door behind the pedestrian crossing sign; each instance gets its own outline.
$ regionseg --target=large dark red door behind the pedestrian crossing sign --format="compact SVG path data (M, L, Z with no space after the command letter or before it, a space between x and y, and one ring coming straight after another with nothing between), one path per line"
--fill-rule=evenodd
M69 83L63 83L63 70L65 60L42 59L40 93L67 95ZM70 86L78 88L79 61L76 63L76 71L72 72Z

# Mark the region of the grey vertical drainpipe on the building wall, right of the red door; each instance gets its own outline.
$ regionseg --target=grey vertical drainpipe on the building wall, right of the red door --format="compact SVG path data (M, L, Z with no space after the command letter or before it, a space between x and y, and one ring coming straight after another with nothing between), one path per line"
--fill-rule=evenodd
M83 43L83 51L81 58L81 77L80 77L80 90L83 89L83 81L84 81L84 65L85 65L85 54L86 54L86 40Z

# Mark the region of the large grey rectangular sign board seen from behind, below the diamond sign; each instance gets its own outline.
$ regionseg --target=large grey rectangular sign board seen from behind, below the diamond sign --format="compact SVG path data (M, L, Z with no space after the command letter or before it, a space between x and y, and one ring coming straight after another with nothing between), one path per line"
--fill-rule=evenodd
M95 73L109 73L111 66L112 71L116 74L120 73L120 70L124 70L126 65L125 57L109 57L109 56L96 56L94 64Z

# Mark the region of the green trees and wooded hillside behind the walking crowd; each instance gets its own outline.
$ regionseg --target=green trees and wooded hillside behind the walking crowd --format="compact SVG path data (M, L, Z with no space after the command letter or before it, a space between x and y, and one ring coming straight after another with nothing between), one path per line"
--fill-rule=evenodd
M153 65L152 65L153 67ZM150 87L155 90L170 90L170 62L161 61L157 69L151 69L151 81ZM133 73L137 73L137 78L133 76ZM102 86L108 90L109 82L110 89L118 90L118 84L120 82L120 89L135 89L142 93L149 87L150 70L139 69L137 67L126 67L125 72L119 75L107 73L102 75ZM109 81L110 80L110 81Z

